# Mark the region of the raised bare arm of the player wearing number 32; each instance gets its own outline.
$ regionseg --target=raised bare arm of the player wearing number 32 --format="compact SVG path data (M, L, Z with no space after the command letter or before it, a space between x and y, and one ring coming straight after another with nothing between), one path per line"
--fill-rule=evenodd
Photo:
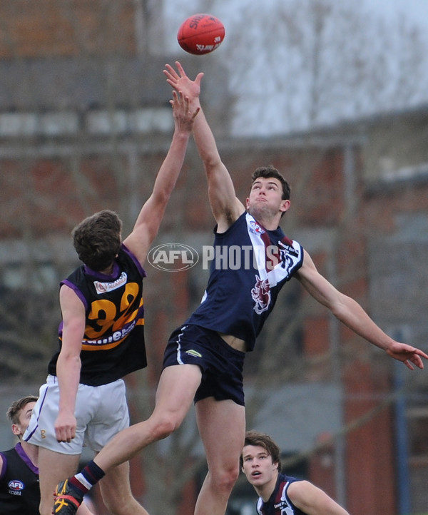
M132 233L123 243L143 265L151 243L158 234L166 205L183 166L185 151L198 108L190 108L189 99L173 91L174 133L165 159L156 176L153 192L141 208Z

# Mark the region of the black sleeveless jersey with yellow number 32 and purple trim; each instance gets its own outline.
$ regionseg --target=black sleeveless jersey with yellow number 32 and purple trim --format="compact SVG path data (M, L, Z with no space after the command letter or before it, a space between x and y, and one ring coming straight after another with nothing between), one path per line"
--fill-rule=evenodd
M71 287L86 310L82 340L80 382L100 386L146 367L143 278L146 272L125 247L116 257L111 275L81 265L61 285ZM62 342L61 322L58 330ZM49 363L56 375L59 351Z

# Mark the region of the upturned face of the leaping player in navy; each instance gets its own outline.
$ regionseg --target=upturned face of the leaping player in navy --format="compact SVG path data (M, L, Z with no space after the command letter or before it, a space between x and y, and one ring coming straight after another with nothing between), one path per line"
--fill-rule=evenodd
M282 184L274 177L259 177L251 185L247 209L256 219L262 215L275 215L287 210L289 200L282 200Z

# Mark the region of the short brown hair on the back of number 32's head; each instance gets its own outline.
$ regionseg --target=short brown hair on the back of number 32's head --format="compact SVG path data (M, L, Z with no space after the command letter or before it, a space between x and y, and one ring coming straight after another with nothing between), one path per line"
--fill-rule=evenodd
M71 233L78 258L96 272L104 270L121 248L121 230L122 221L114 211L88 216Z

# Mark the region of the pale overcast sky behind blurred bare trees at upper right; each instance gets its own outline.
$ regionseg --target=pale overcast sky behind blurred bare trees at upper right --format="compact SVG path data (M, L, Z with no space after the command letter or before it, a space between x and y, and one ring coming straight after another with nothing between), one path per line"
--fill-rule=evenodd
M320 91L324 104L319 108L315 125L322 126L335 123L340 119L370 115L376 111L414 108L415 105L428 103L428 0L361 0L360 2L340 0L340 4L335 4L335 1L332 1L335 8L349 6L360 13L360 29L357 30L365 31L367 26L367 34L360 38L365 41L365 52L361 51L361 58L365 62L372 59L373 63L365 68L360 76L355 76L354 86L350 78L352 71L349 70L338 73L335 78L328 78L328 80L320 77ZM262 19L261 5L263 9L267 9L270 5L279 5L283 8L287 4L290 5L290 2L293 5L293 0L265 0L260 4L260 19ZM177 50L176 34L181 21L191 14L206 12L207 5L209 5L209 12L218 16L225 24L225 41L212 56L195 58L200 59L202 68L208 68L209 60L214 57L230 66L230 90L238 97L233 133L237 136L267 136L272 133L302 131L313 126L314 122L310 121L310 115L305 113L305 106L310 106L312 102L311 76L307 65L309 54L307 49L303 48L307 45L307 37L305 36L300 48L293 49L292 46L287 46L284 26L280 26L278 33L282 34L276 40L273 39L273 44L270 43L266 36L269 27L258 26L257 4L254 0L228 0L227 2L213 0L208 3L203 0L165 0L169 49ZM299 5L299 2L297 1L294 5ZM245 27L239 26L238 21L250 10L253 10L252 28L248 28L245 32ZM300 18L298 16L301 14L300 11L296 11L297 24L303 23L302 16ZM374 39L380 31L377 32L376 24L370 26L371 19L367 19L367 14L369 16L372 14L372 21L377 19L387 21L387 29L382 36L379 36L379 41ZM400 33L402 21L405 21L407 27L417 26L421 29L422 43L416 56L414 52L407 53L406 46L409 41L403 40ZM360 34L355 34L355 26L347 26L346 22L343 25L345 35L333 34L337 31L335 19L332 20L330 29L332 39L331 41L327 41L328 37L326 39L330 47L325 47L327 51L323 55L322 68L326 70L330 68L328 73L334 76L336 63L340 66L342 61L342 66L346 67L348 66L347 56L359 56L355 47L352 48L352 39L358 38ZM241 31L238 34L240 40L237 46L233 46L233 38L237 36L234 30ZM349 37L347 37L347 31L350 31ZM353 35L355 38L352 38ZM260 44L257 43L259 37L263 38ZM256 41L255 44L254 41ZM282 49L280 49L281 45ZM254 50L258 48L260 55ZM274 57L275 51L278 53L277 58ZM267 64L268 61L270 64ZM382 61L387 61L387 65ZM270 66L270 68L263 69L263 66ZM385 68L383 69L382 66ZM281 68L284 73L282 80L279 76ZM377 73L379 77L376 77ZM390 74L390 77L387 74ZM341 89L340 82L345 76L348 83L344 82L344 87ZM366 78L362 79L362 76ZM388 80L385 80L385 76L388 76ZM370 77L372 77L372 83L370 83ZM263 78L263 81L260 81L260 78ZM209 80L208 71L204 78L204 81L206 80ZM328 81L333 83L332 91L328 91L330 85L322 86L322 84L328 84ZM374 83L379 83L377 90ZM417 87L419 87L418 91ZM373 93L377 93L377 96ZM400 93L402 98L399 98ZM372 106L370 101L373 101Z

